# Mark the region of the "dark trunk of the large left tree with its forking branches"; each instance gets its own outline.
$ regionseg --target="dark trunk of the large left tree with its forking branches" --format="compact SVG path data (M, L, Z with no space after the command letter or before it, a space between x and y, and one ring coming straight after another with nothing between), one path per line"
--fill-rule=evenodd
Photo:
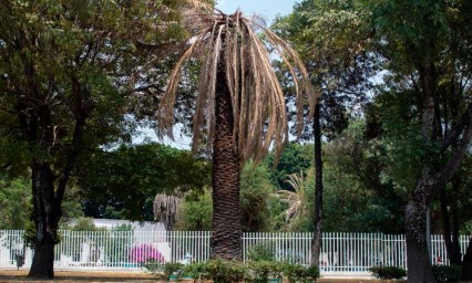
M55 176L52 165L47 158L34 157L31 164L32 192L33 192L33 221L35 226L35 235L32 242L34 255L31 264L29 277L53 279L54 271L54 245L59 242L58 226L62 217L62 200L66 184L70 179L72 168L79 156L85 120L89 116L90 90L88 86L76 84L72 91L74 99L73 113L75 125L72 134L71 144L65 151L65 161L61 165L60 175ZM39 106L29 118L25 115L19 115L19 122L23 129L23 135L28 143L33 147L41 147L47 154L50 154L54 147L53 122L51 109L48 106ZM57 180L57 186L54 181Z

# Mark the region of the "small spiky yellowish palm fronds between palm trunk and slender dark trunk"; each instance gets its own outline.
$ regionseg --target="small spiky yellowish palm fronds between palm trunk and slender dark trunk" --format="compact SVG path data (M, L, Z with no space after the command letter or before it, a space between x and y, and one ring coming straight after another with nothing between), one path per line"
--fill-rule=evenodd
M286 214L286 221L290 222L297 218L302 211L304 201L306 201L305 180L304 172L287 175L288 180L285 180L294 191L278 190L280 201L288 205L288 208L284 211Z

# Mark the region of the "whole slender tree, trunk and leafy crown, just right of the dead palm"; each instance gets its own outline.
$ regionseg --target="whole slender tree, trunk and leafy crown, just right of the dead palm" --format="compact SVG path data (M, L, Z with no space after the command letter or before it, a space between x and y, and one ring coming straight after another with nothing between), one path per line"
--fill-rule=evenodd
M366 101L368 77L374 72L369 60L370 30L365 19L366 13L357 10L353 1L301 1L291 14L275 24L300 53L319 96L312 129L305 130L302 136L315 139L311 265L319 265L324 219L321 135L332 139L347 127L348 107L355 112ZM310 120L311 116L307 118Z

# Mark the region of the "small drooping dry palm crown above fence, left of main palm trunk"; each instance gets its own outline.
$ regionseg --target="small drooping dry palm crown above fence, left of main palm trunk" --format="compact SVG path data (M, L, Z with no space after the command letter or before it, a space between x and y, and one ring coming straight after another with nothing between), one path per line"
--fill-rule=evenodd
M165 226L166 230L172 230L175 226L177 208L181 199L175 196L157 193L154 198L154 219Z

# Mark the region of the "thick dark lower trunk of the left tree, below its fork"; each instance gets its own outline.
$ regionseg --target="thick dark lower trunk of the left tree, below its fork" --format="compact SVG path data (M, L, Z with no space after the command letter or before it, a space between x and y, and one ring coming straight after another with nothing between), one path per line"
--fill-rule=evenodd
M34 256L29 277L53 279L54 244L60 216L54 211L54 186L51 168L44 163L32 166Z

